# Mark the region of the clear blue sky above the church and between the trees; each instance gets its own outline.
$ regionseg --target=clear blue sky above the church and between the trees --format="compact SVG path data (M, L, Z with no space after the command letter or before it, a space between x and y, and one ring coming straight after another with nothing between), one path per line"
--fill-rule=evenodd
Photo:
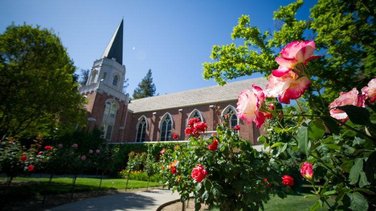
M230 34L242 14L249 15L252 25L260 30L273 30L273 11L290 2L293 1L2 0L0 33L12 21L52 28L77 68L89 69L124 17L127 92L132 95L151 68L157 93L162 95L215 85L213 80L205 81L201 76L201 64L211 62L211 47L234 42ZM315 2L306 0L298 18L306 19ZM257 76L260 75L241 79Z

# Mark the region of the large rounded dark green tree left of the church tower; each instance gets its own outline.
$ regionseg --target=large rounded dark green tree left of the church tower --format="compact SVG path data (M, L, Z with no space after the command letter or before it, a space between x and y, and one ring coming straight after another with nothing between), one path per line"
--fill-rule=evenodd
M0 35L0 137L54 135L82 123L74 70L52 30L8 26Z

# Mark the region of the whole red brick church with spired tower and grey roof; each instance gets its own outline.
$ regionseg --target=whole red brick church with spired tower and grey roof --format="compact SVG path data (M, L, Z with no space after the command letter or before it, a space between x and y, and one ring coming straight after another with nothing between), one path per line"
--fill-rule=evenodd
M227 114L231 126L240 126L239 135L256 144L260 130L236 117L238 93L252 84L265 86L264 78L233 82L224 86L209 86L128 102L122 93L125 66L122 64L123 21L118 25L101 59L94 61L86 85L79 93L87 96L87 128L100 128L101 137L111 143L170 141L184 133L188 119L196 117L208 124L210 136L221 115Z

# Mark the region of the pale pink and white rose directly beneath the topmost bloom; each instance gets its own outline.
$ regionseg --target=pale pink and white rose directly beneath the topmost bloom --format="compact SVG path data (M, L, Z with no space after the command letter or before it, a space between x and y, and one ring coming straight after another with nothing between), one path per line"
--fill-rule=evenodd
M270 75L265 87L265 95L266 97L279 97L281 103L290 104L290 100L300 98L310 84L311 81L307 77L299 78L293 71L281 77Z

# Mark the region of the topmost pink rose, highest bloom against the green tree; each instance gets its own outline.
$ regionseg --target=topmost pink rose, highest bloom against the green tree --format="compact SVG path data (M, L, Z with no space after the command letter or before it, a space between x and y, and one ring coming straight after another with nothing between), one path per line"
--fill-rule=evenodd
M281 77L288 73L297 64L303 63L303 65L306 65L310 60L321 57L312 56L315 48L315 42L313 41L290 42L282 48L281 56L275 59L280 66L278 69L273 70L272 74L275 77Z

